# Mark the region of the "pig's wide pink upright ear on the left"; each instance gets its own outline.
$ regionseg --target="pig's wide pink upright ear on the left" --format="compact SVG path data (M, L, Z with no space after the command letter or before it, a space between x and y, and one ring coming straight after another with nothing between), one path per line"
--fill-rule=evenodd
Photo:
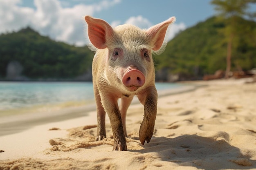
M104 20L85 16L88 24L88 37L93 46L97 49L105 49L107 47L106 40L112 36L112 27Z

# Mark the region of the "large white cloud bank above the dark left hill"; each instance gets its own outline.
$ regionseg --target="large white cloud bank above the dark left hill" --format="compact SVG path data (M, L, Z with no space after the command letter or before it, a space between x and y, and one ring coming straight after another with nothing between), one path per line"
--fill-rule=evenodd
M102 0L97 4L62 7L59 0L34 0L35 9L20 7L21 0L0 1L0 33L31 26L43 35L59 41L85 43L83 16L108 9L120 0Z

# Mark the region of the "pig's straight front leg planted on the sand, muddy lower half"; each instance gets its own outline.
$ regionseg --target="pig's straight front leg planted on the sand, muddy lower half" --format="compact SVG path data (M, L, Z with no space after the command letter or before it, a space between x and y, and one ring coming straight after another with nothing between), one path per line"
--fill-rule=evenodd
M117 98L113 97L111 94L101 94L101 99L103 107L108 113L113 132L113 150L127 150L124 128L122 124L121 113L117 104Z

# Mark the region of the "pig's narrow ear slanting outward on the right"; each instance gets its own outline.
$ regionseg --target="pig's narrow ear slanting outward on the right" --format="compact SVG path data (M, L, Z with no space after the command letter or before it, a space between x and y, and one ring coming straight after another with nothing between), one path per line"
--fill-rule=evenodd
M149 35L149 38L153 43L153 51L155 52L159 51L158 53L161 53L162 52L161 47L165 48L164 45L166 44L164 44L164 38L166 35L166 31L168 29L168 26L173 22L175 22L175 20L176 20L175 17L171 17L168 20L161 22L157 25L154 25L147 30L147 34Z

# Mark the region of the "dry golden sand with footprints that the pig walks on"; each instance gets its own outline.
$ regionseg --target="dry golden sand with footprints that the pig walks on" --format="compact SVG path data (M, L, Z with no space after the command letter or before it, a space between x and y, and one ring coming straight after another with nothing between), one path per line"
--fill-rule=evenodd
M94 110L6 133L0 136L0 170L256 169L256 83L247 80L189 82L204 86L159 97L155 131L144 146L143 106L132 104L128 151L112 151L108 117L107 138L96 141Z

